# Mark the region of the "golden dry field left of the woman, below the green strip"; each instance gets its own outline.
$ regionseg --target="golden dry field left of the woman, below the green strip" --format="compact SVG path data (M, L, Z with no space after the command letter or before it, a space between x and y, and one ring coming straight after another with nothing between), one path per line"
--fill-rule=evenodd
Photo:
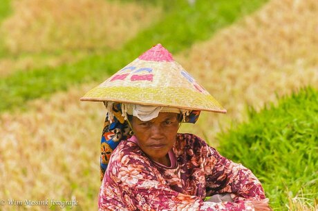
M105 112L102 103L79 101L91 86L33 101L27 113L1 115L1 199L76 198L77 209L97 209Z

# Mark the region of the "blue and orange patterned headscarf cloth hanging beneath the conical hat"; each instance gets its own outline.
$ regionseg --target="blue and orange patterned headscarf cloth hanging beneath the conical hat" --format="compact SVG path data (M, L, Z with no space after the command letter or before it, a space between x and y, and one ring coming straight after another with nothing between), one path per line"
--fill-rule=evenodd
M109 120L109 114L106 114L102 139L100 141L100 180L104 178L104 174L111 157L111 152L115 150L120 141L127 140L131 137L129 132L131 128L127 120L122 115L121 103L113 103L112 117ZM185 123L196 123L200 115L199 110L192 110L182 119Z

